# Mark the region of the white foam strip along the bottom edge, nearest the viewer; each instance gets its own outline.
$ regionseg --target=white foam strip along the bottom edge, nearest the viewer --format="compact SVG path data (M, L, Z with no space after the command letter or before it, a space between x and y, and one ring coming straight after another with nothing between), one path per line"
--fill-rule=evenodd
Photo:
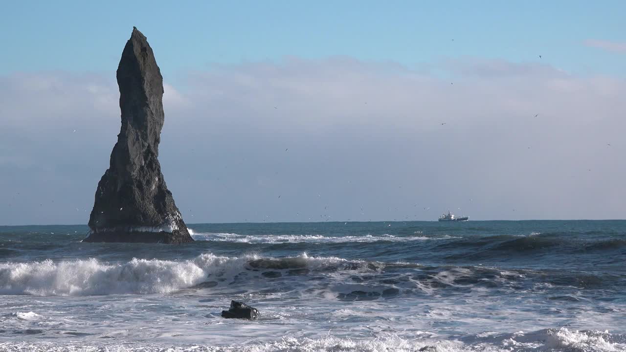
M536 333L523 332L485 337L468 342L466 339L451 339L438 334L417 331L411 338L396 335L379 338L340 338L329 336L322 338L295 338L286 336L282 339L265 343L244 345L210 345L154 343L42 343L4 342L0 351L6 352L105 352L105 351L142 351L142 352L615 352L624 351L626 345L621 342L606 341L608 333L599 331L579 332L565 328ZM622 341L623 342L623 341Z

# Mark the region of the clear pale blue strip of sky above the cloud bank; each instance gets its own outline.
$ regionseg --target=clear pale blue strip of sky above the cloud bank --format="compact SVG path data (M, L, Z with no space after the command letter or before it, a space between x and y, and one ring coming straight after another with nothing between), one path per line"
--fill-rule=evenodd
M348 55L409 67L465 56L624 75L624 1L5 1L0 73L112 71L132 26L165 76L207 63ZM452 41L451 39L454 39Z

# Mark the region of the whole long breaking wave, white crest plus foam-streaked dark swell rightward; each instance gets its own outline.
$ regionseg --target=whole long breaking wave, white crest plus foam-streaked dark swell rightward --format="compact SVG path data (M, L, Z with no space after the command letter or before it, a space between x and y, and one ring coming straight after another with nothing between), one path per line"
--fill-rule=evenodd
M447 290L501 289L533 292L538 286L567 288L553 299L578 299L580 289L620 286L623 277L572 271L533 271L486 266L422 266L338 257L242 257L200 254L186 261L97 259L0 263L0 294L93 296L168 293L238 287L245 292L294 292L342 301L437 294ZM213 288L215 287L215 288ZM252 287L252 288L251 288Z

